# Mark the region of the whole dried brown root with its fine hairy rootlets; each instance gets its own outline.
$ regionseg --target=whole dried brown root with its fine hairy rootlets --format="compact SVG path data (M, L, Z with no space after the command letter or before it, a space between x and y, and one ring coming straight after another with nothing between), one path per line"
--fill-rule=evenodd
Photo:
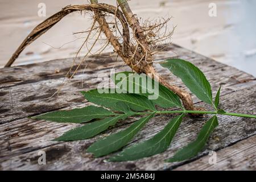
M168 46L168 43L171 40L170 38L174 29L172 31L168 31L167 29L167 22L170 18L154 21L139 21L131 11L126 0L117 0L117 7L98 3L97 0L91 0L91 3L91 5L66 6L58 13L44 20L44 22L36 26L22 44L20 44L5 67L10 67L24 48L48 31L52 26L64 18L64 16L74 11L90 11L94 13L92 27L87 31L75 33L88 33L79 52L82 47L86 46L88 53L85 57L89 53L92 53L92 48L96 42L100 40L101 34L104 33L106 37L105 44L96 53L101 53L107 46L109 46L109 44L111 44L114 48L114 52L117 53L118 56L125 61L125 64L129 65L133 71L137 73L145 73L158 80L160 84L166 86L181 98L185 109L195 110L190 94L175 85L170 85L162 76L156 73L153 66L154 59L152 56L164 48L164 46L162 46L163 43L167 42L166 45ZM121 7L122 11L119 7ZM107 19L110 15L112 15L112 21ZM91 39L90 36L93 31L96 32L97 35L92 46L89 48L87 43L88 40ZM85 60L85 57L81 60L81 63ZM79 66L75 69L73 75L75 75ZM67 77L73 77L73 75L70 75L71 69L67 73Z

